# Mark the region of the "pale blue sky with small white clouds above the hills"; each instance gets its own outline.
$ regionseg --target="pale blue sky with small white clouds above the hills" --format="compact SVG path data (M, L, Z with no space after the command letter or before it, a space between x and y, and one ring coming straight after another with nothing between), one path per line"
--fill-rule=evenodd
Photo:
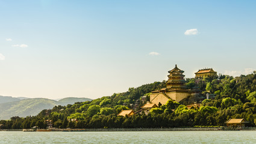
M0 1L0 95L110 96L256 70L256 1Z

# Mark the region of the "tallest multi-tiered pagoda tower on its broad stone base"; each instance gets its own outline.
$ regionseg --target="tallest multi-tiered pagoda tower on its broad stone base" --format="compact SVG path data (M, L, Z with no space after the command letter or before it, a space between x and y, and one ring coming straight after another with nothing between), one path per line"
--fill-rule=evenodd
M150 95L150 102L158 106L159 103L166 104L168 100L181 101L191 95L190 89L186 88L186 81L184 80L184 71L180 70L177 65L175 68L168 71L168 80L166 88L160 91L152 91Z

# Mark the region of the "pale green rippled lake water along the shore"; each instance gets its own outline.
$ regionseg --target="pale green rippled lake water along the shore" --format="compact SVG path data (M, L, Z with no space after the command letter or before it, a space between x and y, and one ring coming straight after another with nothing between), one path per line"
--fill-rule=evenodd
M256 143L256 131L0 131L0 143Z

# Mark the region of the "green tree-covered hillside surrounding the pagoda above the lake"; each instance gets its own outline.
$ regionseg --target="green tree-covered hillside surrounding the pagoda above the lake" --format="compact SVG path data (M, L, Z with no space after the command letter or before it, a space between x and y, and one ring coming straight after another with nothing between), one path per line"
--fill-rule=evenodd
M195 125L225 125L229 118L245 118L249 125L256 124L256 71L240 77L219 76L204 77L198 85L195 79L187 79L188 88L197 86L201 97L207 92L212 100L204 100L201 107L186 106L168 101L161 107L151 109L149 115L136 114L131 117L116 116L122 109L129 109L143 95L165 87L165 82L155 82L138 88L129 88L127 92L113 94L83 103L55 106L43 110L37 116L12 118L1 121L7 128L32 126L46 127L45 120L51 119L54 127L70 128L139 128L139 127L183 127ZM142 105L142 103L140 103ZM174 110L173 110L174 109ZM77 119L77 122L68 121Z

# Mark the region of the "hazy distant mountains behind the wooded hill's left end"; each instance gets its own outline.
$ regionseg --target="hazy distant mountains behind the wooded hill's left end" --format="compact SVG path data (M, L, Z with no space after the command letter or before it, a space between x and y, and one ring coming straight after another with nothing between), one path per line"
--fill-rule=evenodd
M0 120L10 119L12 116L34 116L43 109L52 109L54 106L66 106L76 102L91 101L90 98L67 97L61 100L50 100L48 98L26 98L0 96Z

